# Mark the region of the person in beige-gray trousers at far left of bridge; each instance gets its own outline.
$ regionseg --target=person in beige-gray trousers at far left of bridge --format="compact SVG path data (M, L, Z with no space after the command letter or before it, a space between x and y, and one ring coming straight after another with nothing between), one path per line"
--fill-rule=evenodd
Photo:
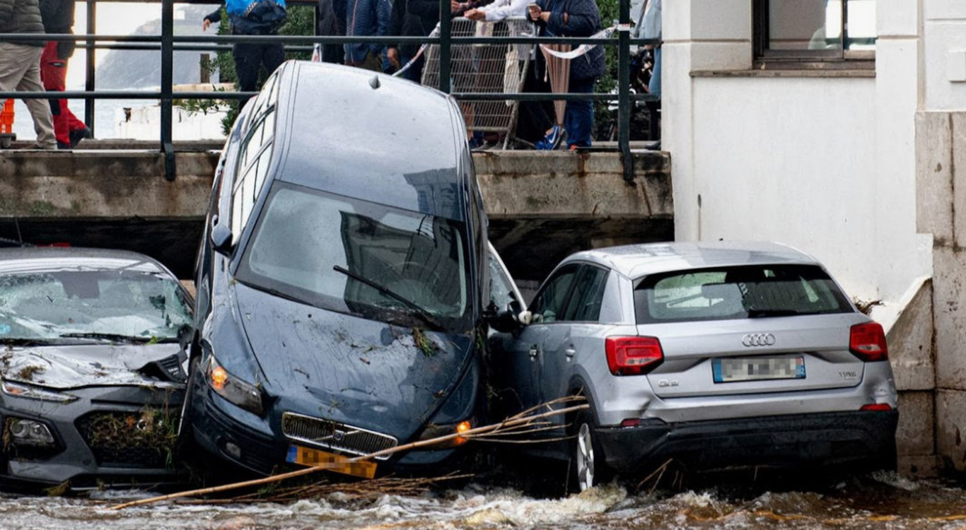
M0 33L43 34L37 0L0 0ZM43 92L39 41L0 42L0 92ZM25 99L37 132L37 149L57 149L50 106L43 99Z

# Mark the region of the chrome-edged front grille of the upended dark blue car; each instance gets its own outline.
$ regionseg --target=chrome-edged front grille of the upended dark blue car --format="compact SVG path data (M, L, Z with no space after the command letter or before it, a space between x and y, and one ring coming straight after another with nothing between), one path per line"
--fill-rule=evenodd
M293 412L282 414L282 432L296 441L353 455L368 455L399 444L399 440L388 434ZM388 458L384 455L377 460Z

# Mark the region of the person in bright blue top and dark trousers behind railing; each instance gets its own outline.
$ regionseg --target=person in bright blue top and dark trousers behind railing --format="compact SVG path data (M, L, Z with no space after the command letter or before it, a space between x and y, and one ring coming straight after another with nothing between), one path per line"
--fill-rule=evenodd
M232 35L278 35L278 28L285 23L285 0L226 0L225 11L231 22ZM202 31L208 31L213 22L221 21L221 10L205 16ZM265 65L268 73L275 71L285 61L285 48L279 42L235 42L232 46L235 58L235 75L241 92L255 92L258 86L258 70ZM243 107L249 98L239 101Z

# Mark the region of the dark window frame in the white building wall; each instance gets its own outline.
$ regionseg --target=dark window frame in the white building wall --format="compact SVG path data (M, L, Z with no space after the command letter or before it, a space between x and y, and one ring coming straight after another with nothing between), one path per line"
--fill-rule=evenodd
M782 65L782 68L805 68L809 70L822 69L869 69L875 68L875 50L847 49L848 42L848 3L841 0L841 49L788 49L773 50L770 42L770 12L771 0L753 0L752 4L752 52L755 68L762 68L767 64ZM814 0L817 1L817 0ZM876 36L878 41L878 36Z

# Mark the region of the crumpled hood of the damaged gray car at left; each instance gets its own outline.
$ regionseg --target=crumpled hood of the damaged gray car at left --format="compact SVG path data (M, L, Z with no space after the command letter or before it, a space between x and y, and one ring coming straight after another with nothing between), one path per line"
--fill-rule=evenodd
M0 350L0 373L10 381L56 389L82 386L176 385L177 343L71 345Z

